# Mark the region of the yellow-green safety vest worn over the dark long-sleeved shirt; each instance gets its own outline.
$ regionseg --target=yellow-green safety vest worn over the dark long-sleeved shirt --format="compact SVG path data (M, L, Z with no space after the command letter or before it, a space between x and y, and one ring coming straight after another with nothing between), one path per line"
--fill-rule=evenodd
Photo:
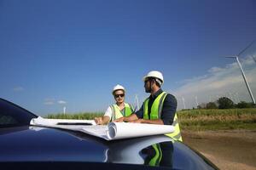
M153 105L151 106L151 113L150 113L150 120L159 119L160 114L163 109L164 100L166 99L166 92L162 92L157 96L156 99L154 99ZM143 119L149 119L148 118L148 99L146 99L143 103ZM183 141L180 128L177 122L177 114L175 113L172 126L174 127L173 133L166 133L167 136L171 137L172 139L176 139L179 141Z

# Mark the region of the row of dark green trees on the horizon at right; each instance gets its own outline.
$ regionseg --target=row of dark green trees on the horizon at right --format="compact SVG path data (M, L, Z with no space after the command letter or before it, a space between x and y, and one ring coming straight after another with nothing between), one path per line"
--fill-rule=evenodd
M256 108L252 102L241 101L235 104L230 98L221 97L215 102L201 103L197 109L233 109L233 108Z

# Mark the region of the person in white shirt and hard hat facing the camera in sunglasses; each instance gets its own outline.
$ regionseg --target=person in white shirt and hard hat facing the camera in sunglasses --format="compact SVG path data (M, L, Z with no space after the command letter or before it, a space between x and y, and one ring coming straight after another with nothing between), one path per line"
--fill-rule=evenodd
M133 112L132 105L125 103L125 88L123 86L118 84L113 87L112 94L116 103L108 107L104 116L95 118L98 125L107 124L123 116L130 116Z

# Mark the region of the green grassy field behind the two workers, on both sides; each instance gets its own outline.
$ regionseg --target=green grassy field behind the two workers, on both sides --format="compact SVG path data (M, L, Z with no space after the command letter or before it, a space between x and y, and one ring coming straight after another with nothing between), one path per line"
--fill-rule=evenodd
M50 114L55 119L93 119L103 113ZM256 130L256 109L177 111L182 130Z

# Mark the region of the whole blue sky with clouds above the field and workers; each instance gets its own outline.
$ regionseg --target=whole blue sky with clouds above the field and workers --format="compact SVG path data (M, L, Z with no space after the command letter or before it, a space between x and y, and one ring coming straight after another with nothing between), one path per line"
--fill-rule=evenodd
M42 116L63 106L105 111L117 83L127 102L137 94L142 103L142 77L158 70L179 109L195 96L249 101L235 60L223 56L256 39L255 8L253 0L1 0L0 97ZM240 59L256 95L255 51Z

